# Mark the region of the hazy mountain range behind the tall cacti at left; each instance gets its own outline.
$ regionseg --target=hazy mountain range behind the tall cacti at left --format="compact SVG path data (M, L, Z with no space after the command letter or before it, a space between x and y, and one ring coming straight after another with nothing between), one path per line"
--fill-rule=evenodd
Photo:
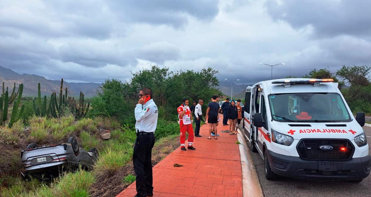
M39 75L29 75L14 72L11 69L3 68L0 66L0 86L9 86L10 91L13 90L14 83L16 87L23 83L23 95L35 96L37 95L37 84L41 85L41 94L49 96L52 92L59 92L60 81L46 79ZM85 94L85 97L91 97L96 94L101 83L69 83L63 81L63 89L68 88L69 95L78 96L80 91Z

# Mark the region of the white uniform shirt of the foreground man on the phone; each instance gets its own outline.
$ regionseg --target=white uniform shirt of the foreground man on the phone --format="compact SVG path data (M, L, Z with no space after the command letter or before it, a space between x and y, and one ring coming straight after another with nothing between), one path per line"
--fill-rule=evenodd
M153 99L144 105L137 104L135 107L135 130L138 132L155 132L157 127L158 109Z

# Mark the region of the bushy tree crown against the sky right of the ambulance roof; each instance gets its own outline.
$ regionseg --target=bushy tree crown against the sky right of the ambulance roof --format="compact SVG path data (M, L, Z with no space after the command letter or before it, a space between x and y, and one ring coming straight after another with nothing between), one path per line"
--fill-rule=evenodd
M370 69L367 66L345 66L336 71L342 79L347 80L351 85L368 85L370 81L367 76L370 73Z

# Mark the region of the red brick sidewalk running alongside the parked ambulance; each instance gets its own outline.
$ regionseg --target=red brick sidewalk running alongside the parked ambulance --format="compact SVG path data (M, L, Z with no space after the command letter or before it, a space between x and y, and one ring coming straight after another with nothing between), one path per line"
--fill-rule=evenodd
M218 139L207 139L209 124L203 125L200 129L202 138L195 137L195 151L177 148L155 165L154 197L242 197L242 170L237 136L220 132L228 127L219 124ZM183 167L173 167L175 163ZM134 182L116 197L134 197L135 194Z

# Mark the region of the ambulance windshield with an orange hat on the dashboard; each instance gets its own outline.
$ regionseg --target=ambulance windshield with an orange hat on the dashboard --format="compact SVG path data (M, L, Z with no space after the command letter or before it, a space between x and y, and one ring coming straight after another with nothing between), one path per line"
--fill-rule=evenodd
M272 117L279 122L350 122L338 93L285 93L269 95Z

